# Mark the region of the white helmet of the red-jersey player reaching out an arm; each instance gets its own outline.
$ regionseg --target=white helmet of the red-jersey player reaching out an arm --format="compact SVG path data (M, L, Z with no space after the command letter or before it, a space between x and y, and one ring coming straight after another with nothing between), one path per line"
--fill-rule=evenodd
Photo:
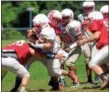
M99 11L93 11L93 12L89 13L88 19L90 19L90 20L101 20L101 19L103 19L103 15Z

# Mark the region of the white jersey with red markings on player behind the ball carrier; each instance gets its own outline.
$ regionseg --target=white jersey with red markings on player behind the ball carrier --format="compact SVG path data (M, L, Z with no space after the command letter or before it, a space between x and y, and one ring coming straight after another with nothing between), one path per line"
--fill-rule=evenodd
M67 26L63 28L63 40L65 47L69 47L71 44L77 41L77 36L82 34L81 23L77 20L71 21Z

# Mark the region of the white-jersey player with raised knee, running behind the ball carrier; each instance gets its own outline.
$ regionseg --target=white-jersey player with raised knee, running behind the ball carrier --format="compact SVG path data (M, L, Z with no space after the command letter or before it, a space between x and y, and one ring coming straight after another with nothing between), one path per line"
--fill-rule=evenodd
M65 50L70 53L66 61L66 65L72 72L72 76L74 78L74 86L77 86L79 84L79 80L76 75L76 68L72 64L74 64L81 55L81 48L84 48L85 51L84 55L88 63L90 58L90 50L87 44L85 44L81 48L77 47L76 49L72 49L73 45L77 40L83 39L83 34L81 31L81 23L73 19L74 18L73 11L68 8L64 9L62 11L62 18L63 18L62 23L63 23L63 38L65 43ZM85 50L85 48L87 50Z

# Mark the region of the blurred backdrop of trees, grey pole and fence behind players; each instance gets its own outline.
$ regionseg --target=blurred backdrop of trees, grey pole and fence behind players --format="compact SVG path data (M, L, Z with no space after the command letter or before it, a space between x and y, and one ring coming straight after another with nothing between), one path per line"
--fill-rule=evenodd
M1 26L2 39L25 39L26 31L32 27L32 18L39 14L47 14L52 9L70 8L75 19L82 13L83 1L2 1ZM108 1L95 1L96 10Z

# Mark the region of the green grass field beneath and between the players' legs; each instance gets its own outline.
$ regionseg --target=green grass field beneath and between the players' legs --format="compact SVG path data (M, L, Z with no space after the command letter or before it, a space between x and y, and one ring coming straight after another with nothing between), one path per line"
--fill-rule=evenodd
M9 43L14 42L15 40L2 40L2 46L5 46ZM108 89L100 90L99 88L92 88L94 84L85 84L87 80L85 73L85 64L84 57L81 56L80 59L76 62L77 74L80 79L79 88L71 88L71 80L68 77L65 77L67 86L61 92L109 92ZM45 66L40 62L35 62L32 64L29 69L31 74L31 80L27 87L29 92L50 92L50 86L48 86L49 76ZM9 92L13 87L15 81L15 75L11 72L4 78L2 81L2 92ZM100 85L100 84L99 84Z

